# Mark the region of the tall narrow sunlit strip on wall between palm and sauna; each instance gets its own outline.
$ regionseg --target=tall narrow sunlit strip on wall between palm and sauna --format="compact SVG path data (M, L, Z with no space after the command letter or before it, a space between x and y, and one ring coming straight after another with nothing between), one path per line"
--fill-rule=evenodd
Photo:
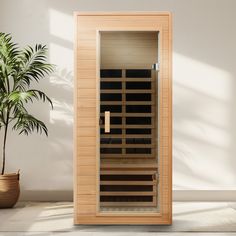
M49 9L50 62L56 65L50 82L54 87L51 124L73 125L73 16Z

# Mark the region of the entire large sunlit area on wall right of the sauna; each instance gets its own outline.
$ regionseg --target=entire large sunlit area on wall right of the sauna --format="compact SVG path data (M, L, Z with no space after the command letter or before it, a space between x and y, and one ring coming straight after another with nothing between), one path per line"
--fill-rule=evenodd
M173 66L174 189L235 189L233 76L178 53Z

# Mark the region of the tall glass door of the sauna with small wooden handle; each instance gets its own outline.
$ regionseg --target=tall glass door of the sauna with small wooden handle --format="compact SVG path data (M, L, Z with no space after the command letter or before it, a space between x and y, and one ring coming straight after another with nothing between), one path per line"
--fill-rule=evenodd
M100 212L157 212L158 32L100 32Z

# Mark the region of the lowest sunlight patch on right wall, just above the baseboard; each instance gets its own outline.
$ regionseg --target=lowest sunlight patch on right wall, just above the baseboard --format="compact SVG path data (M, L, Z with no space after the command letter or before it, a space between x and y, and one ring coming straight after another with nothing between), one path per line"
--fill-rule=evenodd
M181 138L174 149L174 189L235 189L235 173L227 163L228 151Z

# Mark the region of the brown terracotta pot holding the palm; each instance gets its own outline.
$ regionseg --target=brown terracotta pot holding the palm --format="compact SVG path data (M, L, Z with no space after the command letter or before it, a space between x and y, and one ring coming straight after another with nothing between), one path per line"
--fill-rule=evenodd
M19 173L0 175L0 208L13 207L20 195Z

